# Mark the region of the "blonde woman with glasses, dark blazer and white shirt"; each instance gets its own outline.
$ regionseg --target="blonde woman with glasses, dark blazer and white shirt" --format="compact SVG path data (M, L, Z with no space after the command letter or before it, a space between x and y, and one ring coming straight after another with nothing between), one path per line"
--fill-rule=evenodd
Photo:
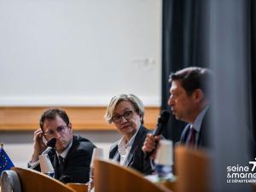
M105 114L109 124L113 123L123 137L113 143L109 159L129 166L143 174L151 174L151 162L145 159L142 150L148 129L143 126L143 102L134 95L113 96Z

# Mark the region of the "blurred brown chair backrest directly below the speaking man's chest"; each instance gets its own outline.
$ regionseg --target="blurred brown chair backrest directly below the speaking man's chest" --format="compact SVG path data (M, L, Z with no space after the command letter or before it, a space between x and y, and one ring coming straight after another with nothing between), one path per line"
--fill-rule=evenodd
M177 192L209 192L210 166L206 151L176 146Z

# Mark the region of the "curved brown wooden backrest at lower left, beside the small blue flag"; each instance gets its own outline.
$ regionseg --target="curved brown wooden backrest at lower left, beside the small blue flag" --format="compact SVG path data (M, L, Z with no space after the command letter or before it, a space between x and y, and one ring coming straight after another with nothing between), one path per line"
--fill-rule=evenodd
M22 192L75 192L64 183L42 172L20 167L13 167L12 170L18 173Z

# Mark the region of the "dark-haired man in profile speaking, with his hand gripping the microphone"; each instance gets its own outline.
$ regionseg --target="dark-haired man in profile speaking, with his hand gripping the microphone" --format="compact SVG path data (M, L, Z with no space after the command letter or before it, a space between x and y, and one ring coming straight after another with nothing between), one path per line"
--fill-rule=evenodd
M207 148L209 125L209 87L212 72L207 68L187 67L170 75L172 83L168 104L176 119L188 125L183 130L180 143L193 148ZM148 135L143 150L150 152L156 147L160 137Z

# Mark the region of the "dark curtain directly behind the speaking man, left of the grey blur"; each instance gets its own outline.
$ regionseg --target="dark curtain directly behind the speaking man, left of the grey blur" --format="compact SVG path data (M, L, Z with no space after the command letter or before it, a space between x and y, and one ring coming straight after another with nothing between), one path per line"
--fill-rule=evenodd
M161 108L170 96L169 75L183 67L209 67L209 7L207 0L163 0ZM171 116L163 135L175 143L184 123Z

